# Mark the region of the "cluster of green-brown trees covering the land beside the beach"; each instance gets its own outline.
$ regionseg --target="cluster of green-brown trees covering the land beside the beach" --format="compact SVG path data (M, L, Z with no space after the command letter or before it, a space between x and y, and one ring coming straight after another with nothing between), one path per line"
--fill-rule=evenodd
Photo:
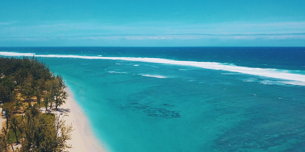
M66 152L72 124L58 110L67 99L66 85L36 58L0 58L0 103L6 119L0 152ZM2 124L0 124L2 125Z

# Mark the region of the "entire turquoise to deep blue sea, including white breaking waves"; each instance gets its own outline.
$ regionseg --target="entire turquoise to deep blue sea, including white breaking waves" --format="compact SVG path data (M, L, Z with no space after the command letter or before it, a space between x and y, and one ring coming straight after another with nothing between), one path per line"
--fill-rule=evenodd
M61 74L109 151L305 151L305 47L2 47L1 55L34 55Z

